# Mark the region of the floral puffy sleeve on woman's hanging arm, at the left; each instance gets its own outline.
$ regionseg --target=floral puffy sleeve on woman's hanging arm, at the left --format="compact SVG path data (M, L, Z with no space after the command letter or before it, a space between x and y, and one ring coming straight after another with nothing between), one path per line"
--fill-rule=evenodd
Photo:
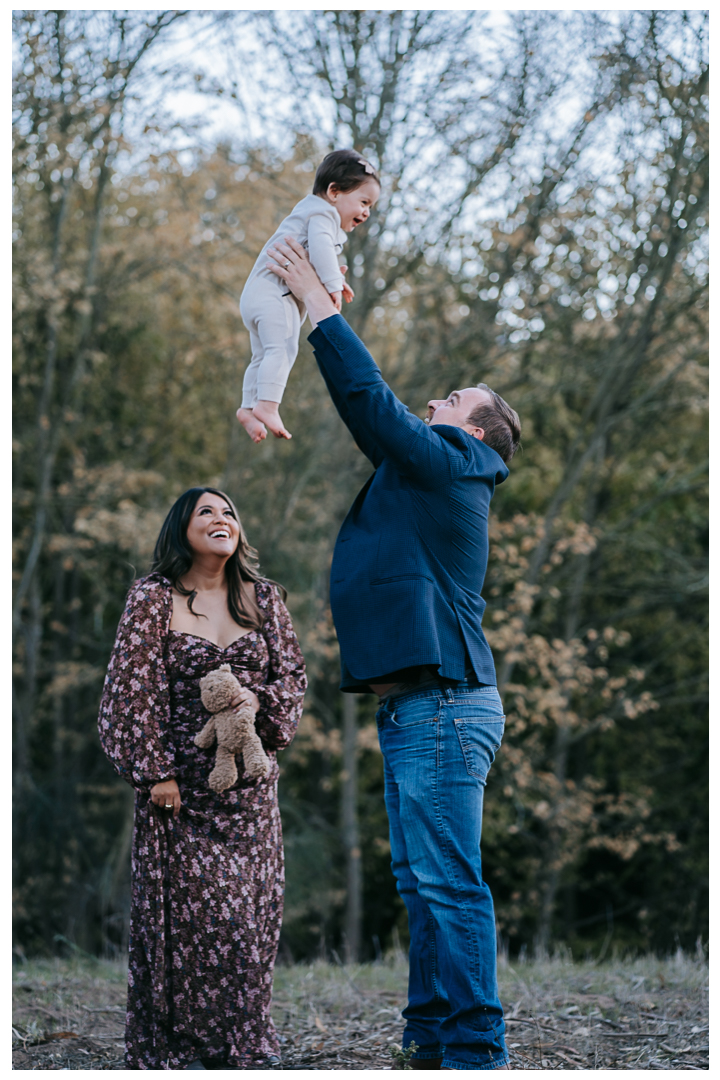
M172 615L164 578L136 581L128 595L103 688L100 744L116 772L148 789L175 775L163 735L169 726L169 689L163 645Z

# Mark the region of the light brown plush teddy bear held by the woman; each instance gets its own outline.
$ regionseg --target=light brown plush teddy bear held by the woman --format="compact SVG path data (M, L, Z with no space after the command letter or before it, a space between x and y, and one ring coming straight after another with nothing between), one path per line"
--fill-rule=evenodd
M214 792L225 792L237 780L235 754L243 755L245 772L254 780L267 777L270 772L270 759L262 748L255 730L255 713L249 705L243 704L237 710L230 707L230 702L241 689L241 685L232 674L230 664L220 664L200 680L200 698L212 713L209 720L194 738L195 746L207 750L217 739L215 768L209 774L208 783Z

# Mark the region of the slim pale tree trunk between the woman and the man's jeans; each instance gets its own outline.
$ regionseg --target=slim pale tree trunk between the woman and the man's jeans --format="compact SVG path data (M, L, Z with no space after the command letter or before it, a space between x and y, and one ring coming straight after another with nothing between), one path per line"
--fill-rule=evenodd
M357 963L363 926L363 864L357 823L357 698L342 703L342 842L345 850L345 963Z

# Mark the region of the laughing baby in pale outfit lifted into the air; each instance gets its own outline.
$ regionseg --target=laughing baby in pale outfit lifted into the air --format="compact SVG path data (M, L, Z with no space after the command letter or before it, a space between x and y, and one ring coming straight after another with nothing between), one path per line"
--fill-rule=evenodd
M253 356L243 380L243 404L237 419L253 442L270 428L277 438L291 438L277 408L298 354L305 309L272 270L266 252L293 237L308 249L310 261L332 297L338 311L353 291L345 285L338 255L347 233L363 225L380 195L377 171L355 150L328 153L315 173L313 193L293 208L267 242L240 298L240 313L250 335ZM267 428L266 428L267 426Z

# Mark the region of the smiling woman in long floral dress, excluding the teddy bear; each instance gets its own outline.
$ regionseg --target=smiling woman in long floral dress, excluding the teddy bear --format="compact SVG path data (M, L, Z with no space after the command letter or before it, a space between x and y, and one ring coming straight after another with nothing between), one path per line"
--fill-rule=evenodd
M132 586L99 731L136 789L128 1069L257 1068L277 1055L270 1020L283 912L275 751L307 687L279 586L261 578L231 500L190 488L169 511L152 572ZM271 760L216 795L199 680L229 663ZM241 770L242 771L242 770Z

